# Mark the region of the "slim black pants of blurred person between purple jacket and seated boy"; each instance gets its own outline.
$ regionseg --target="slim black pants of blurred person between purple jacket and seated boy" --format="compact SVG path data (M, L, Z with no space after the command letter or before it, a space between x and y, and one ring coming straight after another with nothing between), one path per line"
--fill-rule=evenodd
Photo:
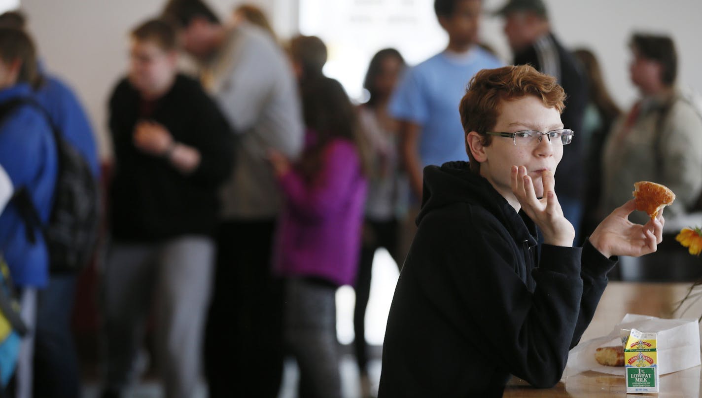
M363 245L361 247L361 259L358 265L356 278L356 307L353 313L353 326L356 338L354 339L354 349L358 368L362 373L366 372L368 364L368 346L366 344L366 307L371 294L371 274L373 270L373 257L378 248L384 247L390 252L392 258L397 262L397 245L399 240L399 224L397 220L373 221L366 220L364 225ZM398 267L402 264L398 263Z

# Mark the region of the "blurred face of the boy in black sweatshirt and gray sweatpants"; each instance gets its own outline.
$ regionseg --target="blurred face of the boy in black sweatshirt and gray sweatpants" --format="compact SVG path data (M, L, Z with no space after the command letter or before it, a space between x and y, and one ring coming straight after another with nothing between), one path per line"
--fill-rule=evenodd
M129 81L138 91L162 91L178 71L177 53L165 51L152 40L133 39L130 58Z

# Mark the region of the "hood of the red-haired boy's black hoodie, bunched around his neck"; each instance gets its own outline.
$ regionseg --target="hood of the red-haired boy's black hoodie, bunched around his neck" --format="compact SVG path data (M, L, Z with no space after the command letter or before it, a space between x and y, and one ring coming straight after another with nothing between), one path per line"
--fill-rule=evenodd
M422 207L417 216L417 225L431 211L456 203L484 208L505 225L515 241L528 241L529 246L536 245L534 222L524 212L517 213L488 180L472 173L467 161L449 161L441 167L425 167Z

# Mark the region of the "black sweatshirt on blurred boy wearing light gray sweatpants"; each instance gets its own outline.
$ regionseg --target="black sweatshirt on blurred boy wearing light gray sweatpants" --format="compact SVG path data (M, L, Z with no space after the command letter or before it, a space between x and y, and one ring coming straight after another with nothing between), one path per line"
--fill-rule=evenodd
M151 110L144 105L140 93L126 78L121 79L110 98L115 154L110 187L112 237L154 242L213 234L219 208L217 190L232 170L230 126L199 82L183 74L176 76ZM197 149L199 166L185 175L168 159L138 150L134 127L143 119L157 121L174 140Z

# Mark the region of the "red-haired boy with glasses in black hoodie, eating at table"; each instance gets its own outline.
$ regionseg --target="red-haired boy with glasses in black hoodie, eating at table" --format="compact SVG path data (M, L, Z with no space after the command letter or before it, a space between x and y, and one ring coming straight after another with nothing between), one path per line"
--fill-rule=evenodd
M574 139L560 119L563 100L555 78L528 65L471 80L459 109L470 164L424 170L378 397L501 397L510 374L552 387L614 256L656 251L663 217L630 223L633 200L572 247L553 178Z

